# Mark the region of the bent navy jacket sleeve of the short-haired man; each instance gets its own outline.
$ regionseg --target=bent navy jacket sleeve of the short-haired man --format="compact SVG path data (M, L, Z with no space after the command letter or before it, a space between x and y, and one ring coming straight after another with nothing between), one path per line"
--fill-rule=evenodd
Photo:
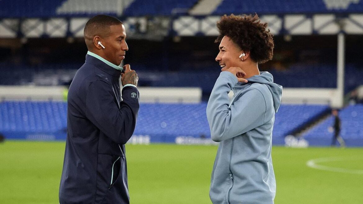
M86 117L118 144L131 138L139 111L139 92L135 87L122 89L120 109L114 102L114 93L104 81L95 81L87 89Z

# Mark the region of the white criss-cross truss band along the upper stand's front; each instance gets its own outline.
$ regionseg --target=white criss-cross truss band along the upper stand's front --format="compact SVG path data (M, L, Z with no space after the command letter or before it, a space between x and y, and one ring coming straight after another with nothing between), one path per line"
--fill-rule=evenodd
M89 17L0 19L0 38L83 37ZM220 16L126 17L121 18L128 35L217 36ZM363 14L262 15L275 35L363 34ZM152 25L152 26L151 26Z

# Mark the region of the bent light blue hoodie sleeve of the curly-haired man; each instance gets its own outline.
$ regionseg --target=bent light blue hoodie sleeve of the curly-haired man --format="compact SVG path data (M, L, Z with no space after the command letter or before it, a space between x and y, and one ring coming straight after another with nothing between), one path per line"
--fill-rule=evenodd
M229 107L228 93L238 82L230 72L221 72L207 105L207 119L211 137L220 142L248 132L264 124L265 98L255 88L237 95Z

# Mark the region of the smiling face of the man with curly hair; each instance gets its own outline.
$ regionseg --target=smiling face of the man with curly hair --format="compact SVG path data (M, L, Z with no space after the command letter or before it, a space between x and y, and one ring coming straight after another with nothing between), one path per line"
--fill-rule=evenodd
M231 38L224 36L219 44L219 53L216 61L219 62L221 68L240 67L242 50L234 43Z

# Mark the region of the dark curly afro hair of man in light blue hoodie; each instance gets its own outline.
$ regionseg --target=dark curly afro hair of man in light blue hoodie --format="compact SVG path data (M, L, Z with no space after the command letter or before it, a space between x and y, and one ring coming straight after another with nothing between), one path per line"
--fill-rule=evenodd
M228 36L240 48L246 52L250 51L250 57L258 64L272 59L273 56L273 34L267 28L267 23L261 23L257 14L255 15L224 15L217 22L219 36L215 40L220 43L224 36Z

